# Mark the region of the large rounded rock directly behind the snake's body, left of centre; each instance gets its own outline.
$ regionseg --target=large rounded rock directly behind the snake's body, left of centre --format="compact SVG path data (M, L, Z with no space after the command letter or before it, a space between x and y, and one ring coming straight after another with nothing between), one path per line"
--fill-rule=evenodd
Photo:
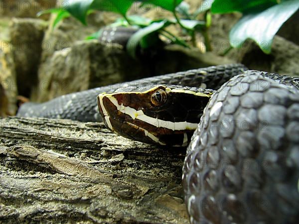
M132 66L135 65L135 66ZM118 83L145 73L143 66L117 46L97 40L77 41L56 51L39 70L36 96L39 102L68 93Z

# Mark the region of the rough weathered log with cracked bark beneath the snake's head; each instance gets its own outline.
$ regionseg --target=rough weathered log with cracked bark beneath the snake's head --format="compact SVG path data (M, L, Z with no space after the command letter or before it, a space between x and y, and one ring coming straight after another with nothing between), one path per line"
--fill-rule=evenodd
M103 123L0 119L0 222L188 223L184 156Z

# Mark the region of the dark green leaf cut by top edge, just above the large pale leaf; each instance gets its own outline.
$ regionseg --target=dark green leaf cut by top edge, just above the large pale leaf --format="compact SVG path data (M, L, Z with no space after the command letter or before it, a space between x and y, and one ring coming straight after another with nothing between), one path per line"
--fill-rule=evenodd
M261 12L278 4L278 0L214 0L212 13L229 13L239 11L243 13Z

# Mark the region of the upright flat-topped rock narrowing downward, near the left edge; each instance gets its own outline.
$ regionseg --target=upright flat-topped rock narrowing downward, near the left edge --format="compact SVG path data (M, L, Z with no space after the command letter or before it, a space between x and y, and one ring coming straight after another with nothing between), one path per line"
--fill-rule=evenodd
M46 27L45 21L33 18L13 18L9 25L11 54L19 95L29 97L32 85L37 83Z

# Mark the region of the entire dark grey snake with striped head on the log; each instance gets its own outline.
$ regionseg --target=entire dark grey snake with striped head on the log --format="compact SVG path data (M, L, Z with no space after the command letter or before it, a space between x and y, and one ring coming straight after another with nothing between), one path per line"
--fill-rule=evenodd
M103 121L124 137L187 147L191 224L299 220L299 78L218 65L26 103L17 116Z

